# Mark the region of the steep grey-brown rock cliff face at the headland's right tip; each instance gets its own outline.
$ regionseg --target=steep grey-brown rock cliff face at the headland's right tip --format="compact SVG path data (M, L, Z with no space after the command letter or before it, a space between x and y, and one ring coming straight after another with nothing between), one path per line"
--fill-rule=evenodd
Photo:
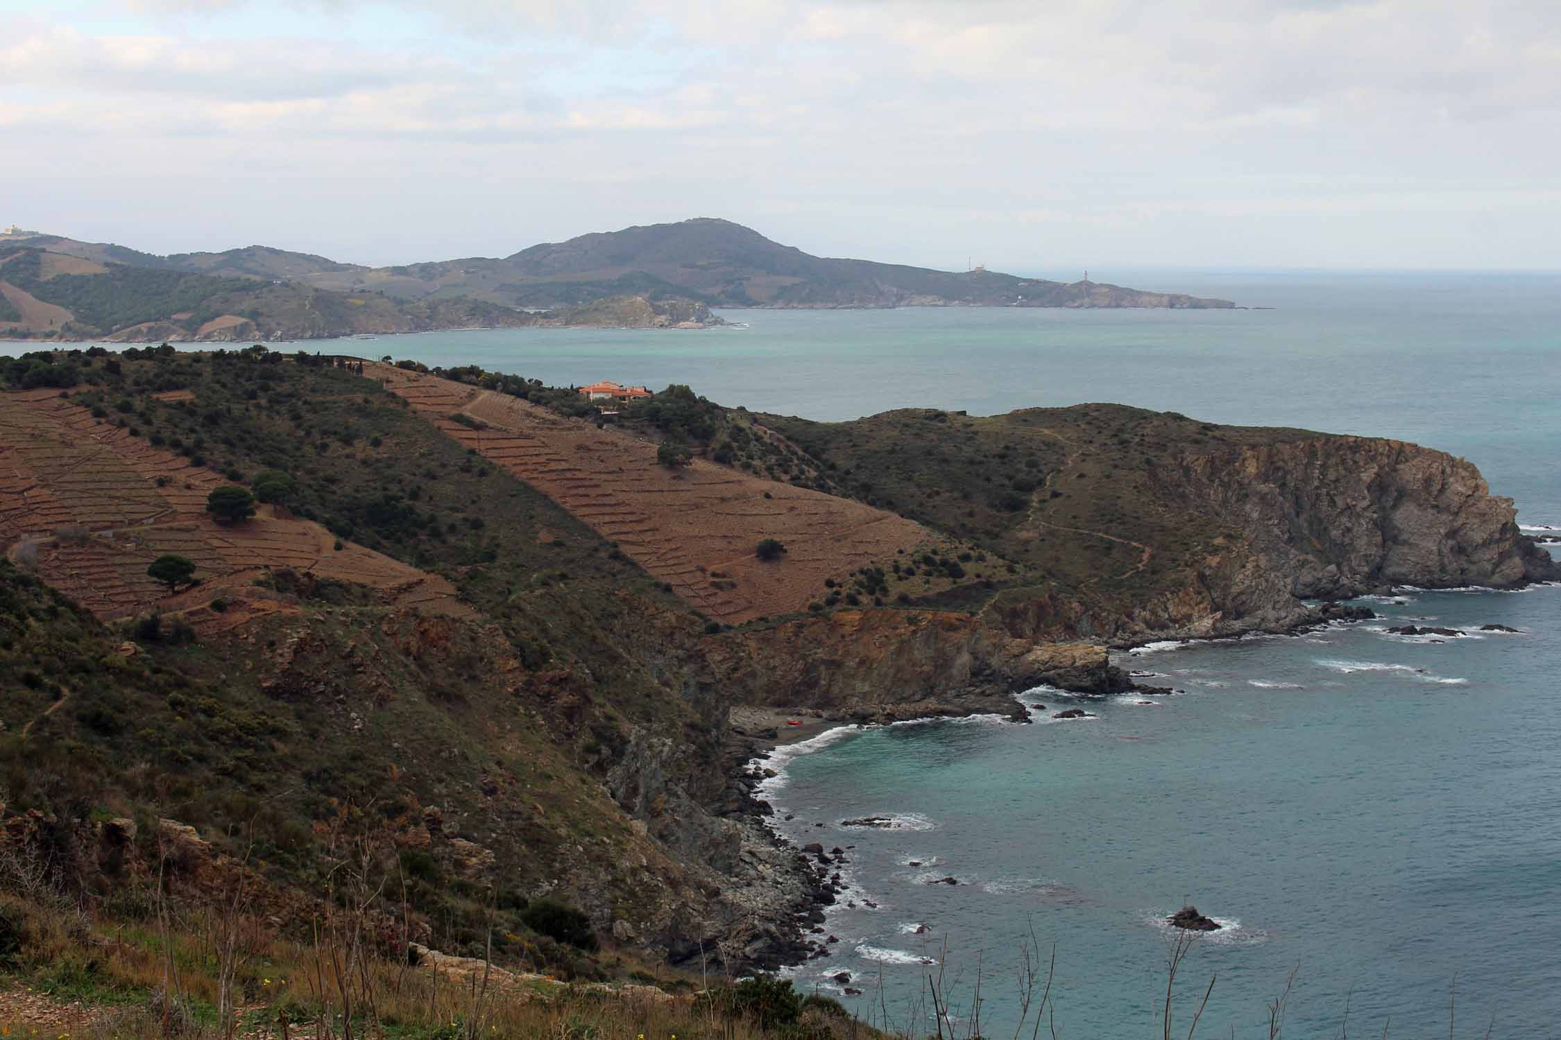
M1186 455L1155 474L1166 497L1239 530L1247 582L1219 589L1336 599L1391 585L1514 588L1561 577L1463 458L1403 441L1319 437ZM1261 588L1257 588L1257 586Z

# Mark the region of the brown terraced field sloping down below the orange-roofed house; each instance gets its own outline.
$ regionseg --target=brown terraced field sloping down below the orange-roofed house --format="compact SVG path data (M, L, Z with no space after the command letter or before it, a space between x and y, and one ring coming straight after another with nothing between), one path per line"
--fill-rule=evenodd
M720 621L807 610L829 577L890 560L901 549L944 544L913 521L849 499L702 460L677 471L659 466L656 444L509 394L390 365L372 365L368 374ZM450 419L456 412L487 429ZM762 538L780 539L787 555L760 561L754 547Z

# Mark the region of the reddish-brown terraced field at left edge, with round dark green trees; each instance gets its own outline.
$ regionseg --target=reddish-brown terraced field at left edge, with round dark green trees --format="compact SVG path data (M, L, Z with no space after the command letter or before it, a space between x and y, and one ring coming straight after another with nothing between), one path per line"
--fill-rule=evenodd
M386 603L473 613L445 578L362 546L337 549L328 530L284 510L261 507L244 524L215 524L206 496L222 483L92 418L58 390L0 393L0 546L100 617L162 607L189 610L201 631L233 628L293 608L254 588L273 568L367 585ZM169 597L147 577L162 554L194 561L201 585ZM212 611L208 603L219 596L236 602Z

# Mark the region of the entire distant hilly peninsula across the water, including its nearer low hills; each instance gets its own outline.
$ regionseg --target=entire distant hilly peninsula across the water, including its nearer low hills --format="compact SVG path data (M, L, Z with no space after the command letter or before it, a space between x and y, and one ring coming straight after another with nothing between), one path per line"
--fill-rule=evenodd
M816 257L726 220L398 267L247 246L155 256L0 235L0 338L278 341L468 327L702 327L712 307L1233 307L982 268Z

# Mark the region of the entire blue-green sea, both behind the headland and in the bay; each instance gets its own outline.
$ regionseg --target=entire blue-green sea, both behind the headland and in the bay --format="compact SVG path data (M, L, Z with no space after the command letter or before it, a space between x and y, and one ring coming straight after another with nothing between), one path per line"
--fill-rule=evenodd
M688 384L815 419L1113 401L1394 437L1472 460L1520 524L1561 529L1561 274L1113 281L1246 309L726 310L734 324L701 332L276 346ZM845 848L849 886L830 954L793 984L912 1032L1033 1037L1051 973L1038 1035L1165 1035L1165 918L1193 903L1222 928L1180 960L1175 1035L1207 992L1208 1037L1272 1035L1274 1018L1288 1037L1561 1037L1561 588L1366 605L1381 617L1118 655L1169 694L1041 688L1019 694L1044 705L1030 725L838 728L779 750L776 826ZM866 815L891 826L846 823Z

